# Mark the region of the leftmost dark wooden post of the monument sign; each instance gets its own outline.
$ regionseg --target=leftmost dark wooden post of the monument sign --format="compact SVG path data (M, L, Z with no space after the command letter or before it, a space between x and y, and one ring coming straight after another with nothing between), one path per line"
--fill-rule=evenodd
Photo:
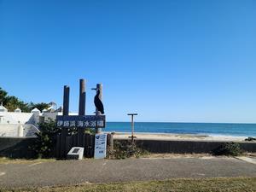
M64 86L63 94L63 115L68 115L69 113L69 93L70 89L67 85ZM66 140L67 140L67 129L61 128L61 158L65 158L67 155L66 151Z

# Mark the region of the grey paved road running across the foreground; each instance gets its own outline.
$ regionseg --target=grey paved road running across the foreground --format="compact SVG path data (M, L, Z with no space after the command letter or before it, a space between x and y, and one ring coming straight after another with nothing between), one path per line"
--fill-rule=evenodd
M0 165L2 187L239 176L256 177L256 165L234 158L62 160Z

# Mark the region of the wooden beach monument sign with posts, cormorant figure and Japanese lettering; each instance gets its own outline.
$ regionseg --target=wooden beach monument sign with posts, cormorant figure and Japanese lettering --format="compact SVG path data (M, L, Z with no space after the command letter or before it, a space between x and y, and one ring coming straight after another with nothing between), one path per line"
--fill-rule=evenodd
M67 139L68 137L68 128L77 128L77 147L86 147L90 143L88 137L84 137L85 128L96 129L99 133L101 128L104 128L106 125L106 116L104 115L104 107L102 104L102 84L97 84L95 96L95 106L96 114L95 115L85 115L85 81L80 79L80 92L79 92L79 115L69 115L69 87L64 86L64 96L63 96L63 113L62 115L57 115L56 117L56 126L61 128L61 144L60 144L60 157L63 158L67 155ZM94 137L94 136L92 136ZM107 146L107 135L106 134L96 134L95 136L95 157L96 159L101 159L106 157L106 146ZM84 141L84 139L89 139ZM85 146L84 146L85 143ZM72 146L76 147L76 146ZM69 150L69 149L68 149ZM71 151L73 153L73 151ZM84 152L83 152L84 153ZM92 153L93 154L93 153Z

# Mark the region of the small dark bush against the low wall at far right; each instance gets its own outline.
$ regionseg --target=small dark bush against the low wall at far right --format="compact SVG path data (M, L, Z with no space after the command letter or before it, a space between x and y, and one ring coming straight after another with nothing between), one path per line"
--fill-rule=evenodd
M214 155L239 156L242 150L239 143L224 143L219 148L212 151Z

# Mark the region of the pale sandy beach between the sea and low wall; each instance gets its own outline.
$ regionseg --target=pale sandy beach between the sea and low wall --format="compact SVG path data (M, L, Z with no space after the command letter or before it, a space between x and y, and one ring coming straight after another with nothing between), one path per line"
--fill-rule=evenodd
M234 136L207 136L207 135L193 135L193 134L171 134L171 133L135 133L137 139L146 140L183 140L183 141L226 141L226 142L244 142L247 137ZM113 138L125 139L131 136L127 132L114 132Z

